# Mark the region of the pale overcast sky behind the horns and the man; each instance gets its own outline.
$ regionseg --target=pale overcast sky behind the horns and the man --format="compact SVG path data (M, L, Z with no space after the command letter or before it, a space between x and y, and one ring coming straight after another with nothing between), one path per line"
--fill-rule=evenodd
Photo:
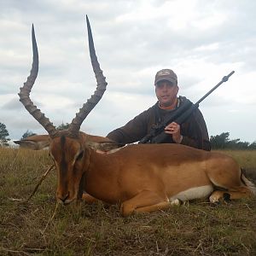
M171 68L179 95L200 104L209 136L256 141L256 1L0 0L0 122L9 138L46 134L19 102L32 67L34 24L39 72L34 104L55 126L70 123L96 89L85 15L108 87L81 126L107 136L156 102L154 75Z

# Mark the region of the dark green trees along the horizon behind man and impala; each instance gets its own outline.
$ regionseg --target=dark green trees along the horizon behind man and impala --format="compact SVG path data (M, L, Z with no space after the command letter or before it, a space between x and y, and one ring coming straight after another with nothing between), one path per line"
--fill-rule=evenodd
M61 124L56 127L57 130L61 131L67 129L70 124ZM32 135L37 135L36 133L26 130L20 140L30 137ZM9 131L6 125L0 122L0 146L9 145ZM253 143L241 142L239 138L230 140L230 132L223 132L219 135L211 136L210 142L212 149L256 149L256 141Z

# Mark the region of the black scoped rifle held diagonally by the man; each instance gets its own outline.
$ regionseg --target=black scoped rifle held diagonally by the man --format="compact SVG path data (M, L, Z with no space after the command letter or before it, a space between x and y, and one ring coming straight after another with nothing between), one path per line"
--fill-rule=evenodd
M193 111L199 107L199 104L207 96L209 96L213 90L216 90L220 84L227 82L233 73L235 73L235 71L232 71L227 76L224 76L224 78L218 84L216 84L212 88L212 90L209 90L207 94L202 96L199 101L195 102L195 104L193 104L190 101L184 102L180 108L177 108L177 110L174 113L167 116L166 119L164 119L159 125L154 125L154 127L151 128L151 130L148 132L148 134L145 137L143 137L143 139L139 142L139 144L164 142L166 137L169 136L165 133L166 125L169 125L172 122L176 122L178 125L183 124L183 122L185 122L186 119L189 118L190 114L193 113Z

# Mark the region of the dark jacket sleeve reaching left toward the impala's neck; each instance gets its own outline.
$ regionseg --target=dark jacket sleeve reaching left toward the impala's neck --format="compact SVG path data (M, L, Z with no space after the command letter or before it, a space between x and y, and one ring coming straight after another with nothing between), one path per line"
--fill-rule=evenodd
M107 137L116 143L136 143L148 133L148 119L150 108L138 114L126 125L108 133Z

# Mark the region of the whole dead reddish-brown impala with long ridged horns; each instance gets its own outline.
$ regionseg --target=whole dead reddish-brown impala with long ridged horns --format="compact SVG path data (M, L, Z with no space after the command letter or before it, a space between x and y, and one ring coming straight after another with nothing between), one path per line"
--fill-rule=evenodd
M87 16L86 21L97 87L69 129L57 131L30 100L29 94L38 75L38 48L33 27L32 70L19 94L20 102L49 133L46 137L33 137L30 143L33 148L42 148L45 143L49 145L58 176L57 201L68 204L82 197L89 200L91 195L91 198L111 204L120 203L121 214L127 216L132 212L166 209L179 200L209 196L214 203L225 196L239 199L255 195L255 185L244 177L236 161L224 154L180 144L136 144L112 154L97 153L94 146L104 139L96 137L91 140L90 136L79 131L107 86L96 58ZM30 143L26 146L30 147ZM109 145L115 147L112 142ZM83 191L88 194L83 195Z

